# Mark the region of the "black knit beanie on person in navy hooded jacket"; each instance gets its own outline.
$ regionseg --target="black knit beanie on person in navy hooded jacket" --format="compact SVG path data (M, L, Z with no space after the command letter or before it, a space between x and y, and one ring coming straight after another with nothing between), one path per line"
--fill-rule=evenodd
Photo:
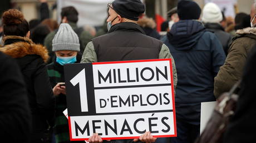
M201 8L196 2L190 0L182 0L178 3L178 16L181 20L199 19Z

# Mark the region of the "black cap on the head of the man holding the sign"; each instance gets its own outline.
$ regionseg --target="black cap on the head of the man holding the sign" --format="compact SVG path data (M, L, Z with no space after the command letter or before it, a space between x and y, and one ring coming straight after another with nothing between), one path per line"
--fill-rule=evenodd
M112 7L121 17L137 21L145 12L145 6L140 0L115 0Z

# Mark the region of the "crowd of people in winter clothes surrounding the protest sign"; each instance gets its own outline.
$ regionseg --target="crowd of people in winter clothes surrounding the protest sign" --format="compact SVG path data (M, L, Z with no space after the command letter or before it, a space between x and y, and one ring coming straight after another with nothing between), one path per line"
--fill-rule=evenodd
M75 7L61 9L61 24L49 18L41 1L41 19L27 22L22 12L2 15L0 47L0 135L3 142L71 142L63 65L72 63L171 58L175 89L177 137L89 142L193 143L200 136L201 103L216 101L239 80L239 100L223 142L254 142L256 1L250 15L228 22L214 3L203 10L179 1L169 11L166 35L145 16L140 0L115 0L97 32L77 27ZM104 19L102 19L103 21ZM166 23L165 23L166 24ZM84 141L76 141L84 142Z

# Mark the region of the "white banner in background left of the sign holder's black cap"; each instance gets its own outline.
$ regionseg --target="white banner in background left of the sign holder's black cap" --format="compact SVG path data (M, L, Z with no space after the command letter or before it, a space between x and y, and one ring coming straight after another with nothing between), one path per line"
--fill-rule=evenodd
M114 0L57 0L60 22L61 8L73 6L79 13L78 26L101 26L107 18L107 3Z

